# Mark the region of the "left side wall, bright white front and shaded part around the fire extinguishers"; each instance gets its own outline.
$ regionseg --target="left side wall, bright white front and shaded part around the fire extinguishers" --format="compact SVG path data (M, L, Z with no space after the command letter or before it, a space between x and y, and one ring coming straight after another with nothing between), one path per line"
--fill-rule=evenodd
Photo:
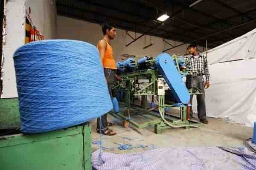
M44 35L54 39L56 10L54 0L8 0L6 4L6 45L3 50L3 96L17 97L13 54L25 43L26 8L31 8L33 25Z

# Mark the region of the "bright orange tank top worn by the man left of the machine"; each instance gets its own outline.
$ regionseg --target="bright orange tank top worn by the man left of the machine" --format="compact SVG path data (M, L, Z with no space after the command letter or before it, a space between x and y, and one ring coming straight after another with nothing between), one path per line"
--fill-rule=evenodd
M107 41L105 41L105 42L107 42ZM99 45L99 42L97 44L97 47L98 47L98 45ZM116 61L113 56L113 48L111 47L111 45L108 42L107 42L107 48L105 51L105 55L104 55L102 64L103 64L103 68L117 69Z

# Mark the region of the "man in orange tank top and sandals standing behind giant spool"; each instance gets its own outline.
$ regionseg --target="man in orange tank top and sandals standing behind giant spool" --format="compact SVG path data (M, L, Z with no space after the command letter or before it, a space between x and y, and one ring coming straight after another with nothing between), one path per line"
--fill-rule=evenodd
M112 87L116 78L119 77L116 75L116 61L113 56L113 48L110 45L110 40L113 40L116 37L116 28L114 24L104 23L102 25L103 38L98 42L98 49L100 59L102 61L102 66L104 68L105 78L108 84L108 91L112 99ZM112 136L116 132L109 129L108 126L113 126L114 124L107 121L107 114L97 119L97 133L102 131L102 134Z

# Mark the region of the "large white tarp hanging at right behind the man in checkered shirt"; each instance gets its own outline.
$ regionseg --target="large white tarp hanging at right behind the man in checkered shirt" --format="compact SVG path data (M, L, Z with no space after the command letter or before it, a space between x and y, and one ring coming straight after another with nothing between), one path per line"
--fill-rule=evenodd
M256 29L208 51L207 116L253 127L256 122ZM233 62L223 62L244 59ZM223 62L223 63L219 63ZM195 97L193 102L195 102ZM196 111L195 105L193 105Z

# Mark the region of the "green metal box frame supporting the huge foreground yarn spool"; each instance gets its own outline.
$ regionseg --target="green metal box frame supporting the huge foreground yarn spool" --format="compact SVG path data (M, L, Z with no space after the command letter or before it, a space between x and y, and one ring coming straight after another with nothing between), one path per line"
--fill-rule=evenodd
M17 98L0 99L0 170L92 169L88 123L47 133L17 133L17 105Z

